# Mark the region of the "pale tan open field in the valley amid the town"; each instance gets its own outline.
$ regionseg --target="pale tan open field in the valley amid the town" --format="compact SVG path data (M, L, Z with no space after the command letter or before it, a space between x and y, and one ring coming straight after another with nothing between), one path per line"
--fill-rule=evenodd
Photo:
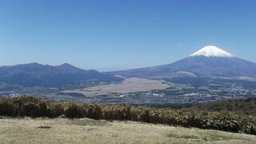
M104 94L125 94L150 90L165 90L170 87L162 80L150 80L146 78L126 78L118 84L86 87L82 90L65 90L63 93L78 93L88 97Z

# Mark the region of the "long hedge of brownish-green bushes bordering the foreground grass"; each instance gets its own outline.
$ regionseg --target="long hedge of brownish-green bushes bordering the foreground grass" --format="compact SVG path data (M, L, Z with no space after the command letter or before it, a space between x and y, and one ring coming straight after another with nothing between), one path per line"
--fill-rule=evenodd
M170 126L198 127L256 134L256 117L229 111L213 112L198 109L154 109L126 104L100 106L95 104L54 102L33 97L0 98L0 115L10 117L58 117L129 120Z

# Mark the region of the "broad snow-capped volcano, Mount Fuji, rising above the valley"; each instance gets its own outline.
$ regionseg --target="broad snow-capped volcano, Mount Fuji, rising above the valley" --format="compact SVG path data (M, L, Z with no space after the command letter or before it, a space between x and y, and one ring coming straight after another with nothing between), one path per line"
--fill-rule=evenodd
M235 57L217 46L205 46L189 57L162 66L113 72L126 77L174 78L217 77L256 78L256 63Z

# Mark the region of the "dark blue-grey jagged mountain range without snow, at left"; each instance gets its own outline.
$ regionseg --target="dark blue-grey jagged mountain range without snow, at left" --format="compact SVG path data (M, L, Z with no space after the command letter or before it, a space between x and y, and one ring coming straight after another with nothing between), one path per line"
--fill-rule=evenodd
M122 78L70 64L49 66L30 63L0 67L0 83L19 86L63 86L78 82L119 82Z

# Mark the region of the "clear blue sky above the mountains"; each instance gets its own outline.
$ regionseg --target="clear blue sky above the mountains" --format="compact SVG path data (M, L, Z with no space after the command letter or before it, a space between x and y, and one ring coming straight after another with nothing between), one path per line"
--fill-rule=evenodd
M0 66L125 70L206 45L256 62L256 1L0 0Z

